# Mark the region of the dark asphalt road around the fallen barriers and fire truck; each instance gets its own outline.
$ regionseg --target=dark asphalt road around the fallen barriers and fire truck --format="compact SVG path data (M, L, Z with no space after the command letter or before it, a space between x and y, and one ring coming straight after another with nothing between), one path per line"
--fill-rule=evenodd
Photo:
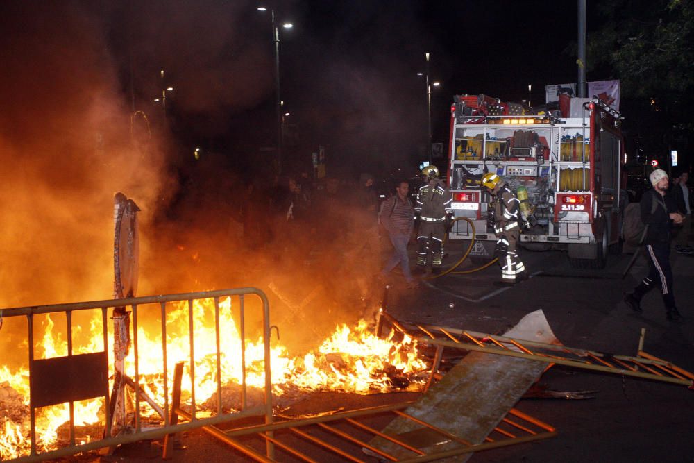
M447 249L451 262L459 244ZM673 250L674 251L674 250ZM528 312L543 310L556 337L566 346L636 355L641 328L644 351L694 371L694 258L673 253L675 296L684 320L666 320L660 294L652 291L635 314L621 300L645 275L638 258L621 278L631 254L610 256L603 270L571 269L566 253L525 251L532 278L514 287L497 287L500 269L493 265L466 276L427 280L406 289L393 277L389 313L398 319L480 332L503 332ZM557 437L480 452L473 462L693 462L694 390L636 378L553 367L540 382L555 390L598 390L589 400L521 399L516 407L557 428ZM417 394L315 394L297 410L333 410L412 400ZM387 421L374 423L385 426ZM183 437L174 461L250 461L202 431ZM251 443L251 445L253 445ZM257 443L254 445L257 446ZM160 455L157 443L117 451L108 461L149 461ZM369 460L366 455L360 457ZM316 455L318 461L336 461ZM377 461L372 459L373 461ZM294 460L287 460L294 461Z

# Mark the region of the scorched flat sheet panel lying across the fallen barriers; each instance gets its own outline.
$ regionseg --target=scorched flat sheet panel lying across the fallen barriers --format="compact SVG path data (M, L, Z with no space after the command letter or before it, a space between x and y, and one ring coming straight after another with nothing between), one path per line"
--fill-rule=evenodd
M541 310L527 314L505 336L559 344ZM510 348L516 350L515 346ZM382 432L406 441L425 454L459 446L455 439L468 445L481 444L546 367L535 360L469 353L405 410L415 419L448 432L449 437L405 417L391 421ZM382 437L373 438L370 444L398 458L416 456ZM469 456L459 455L455 461L463 462Z

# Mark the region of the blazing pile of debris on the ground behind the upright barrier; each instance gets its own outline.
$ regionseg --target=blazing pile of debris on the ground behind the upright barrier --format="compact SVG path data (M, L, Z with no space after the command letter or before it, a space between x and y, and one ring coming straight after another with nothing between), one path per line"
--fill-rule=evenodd
M226 298L219 303L220 326L226 335L221 340L221 380L222 380L222 408L224 410L239 410L241 372L236 362L231 359L240 357L239 350L241 337L237 331L237 322L232 317L232 301ZM187 305L180 303L171 304L167 313L167 345L169 362L169 375L173 369L173 363L178 359L187 358L189 339L187 333ZM198 401L196 409L205 412L217 410L217 370L214 361L215 336L214 319L210 317L214 313L214 304L211 299L196 300L193 305L193 317L195 326L195 351L196 351L196 385L195 394L206 398ZM96 315L95 315L96 317ZM47 326L52 328L52 323ZM130 326L133 330L133 326ZM138 326L138 342L140 352L156 352L161 350L161 337L158 333L148 330L142 324ZM103 334L94 330L94 339L100 339ZM130 334L132 337L132 333ZM402 335L396 337L395 332L387 339L373 335L369 331L366 321L350 328L346 325L338 326L332 335L328 336L318 348L314 348L303 355L291 355L285 346L279 342L273 342L272 347L272 376L273 394L276 409L282 410L305 397L306 394L316 391L348 392L355 394L373 394L376 392L392 392L396 390L414 390L423 387L428 373L427 363L421 359L416 342ZM48 344L53 344L53 352L60 353L65 346L65 339L58 333L46 332L44 338ZM112 350L112 337L109 337L109 350ZM92 348L90 346L90 348ZM132 352L125 357L126 377L134 377L134 364ZM262 403L264 384L262 339L257 342L246 341L246 385L248 405ZM164 376L161 372L161 359L154 355L142 357L139 360L139 384L141 391L145 391L157 403L164 403ZM7 371L1 370L0 371ZM3 375L5 373L0 373ZM111 380L114 371L109 373ZM17 376L15 376L16 380ZM191 385L189 375L184 375L183 400L191 397ZM5 378L0 378L0 381ZM26 376L24 376L26 380ZM169 386L171 378L169 378ZM131 385L134 386L134 385ZM25 393L19 393L10 387L8 382L0 383L0 451L3 459L18 457L28 454L29 448L29 422L28 422L28 386ZM171 387L169 387L171 392ZM127 390L125 396L126 422L133 418L134 394L132 387ZM147 426L160 426L162 420L158 412L155 412L146 403L141 404L142 420ZM188 405L189 407L189 405ZM48 451L64 443L65 423L69 421L67 405L56 405L37 409L37 433L44 437L39 444L40 451ZM103 423L105 419L105 405L103 398L92 401L75 403L76 426L83 429L77 430L78 441L81 439L95 439L98 433L94 429L97 423ZM90 436L90 437L87 437Z

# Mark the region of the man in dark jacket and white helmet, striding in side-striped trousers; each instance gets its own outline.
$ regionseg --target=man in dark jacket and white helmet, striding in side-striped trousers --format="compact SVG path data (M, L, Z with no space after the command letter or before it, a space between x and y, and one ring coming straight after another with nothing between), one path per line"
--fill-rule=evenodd
M641 197L641 221L645 226L644 239L648 254L648 276L634 288L632 293L624 296L624 301L635 312L641 312L641 298L654 286L663 293L663 303L667 310L668 320L682 318L675 307L675 293L672 289L672 268L670 268L670 230L672 222L682 223L682 214L672 206L668 207L665 194L668 191L668 174L661 169L654 170L650 176L652 190Z

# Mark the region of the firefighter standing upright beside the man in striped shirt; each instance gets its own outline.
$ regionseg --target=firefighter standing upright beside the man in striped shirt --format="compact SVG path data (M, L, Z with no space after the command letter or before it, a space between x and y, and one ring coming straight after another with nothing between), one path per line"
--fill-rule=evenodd
M417 266L413 273L426 273L428 254L432 255L432 273L441 273L443 259L443 236L452 223L453 210L450 208L453 198L443 180L439 178L439 169L429 165L422 169L426 182L419 188L414 205L415 219L419 221L417 234Z

